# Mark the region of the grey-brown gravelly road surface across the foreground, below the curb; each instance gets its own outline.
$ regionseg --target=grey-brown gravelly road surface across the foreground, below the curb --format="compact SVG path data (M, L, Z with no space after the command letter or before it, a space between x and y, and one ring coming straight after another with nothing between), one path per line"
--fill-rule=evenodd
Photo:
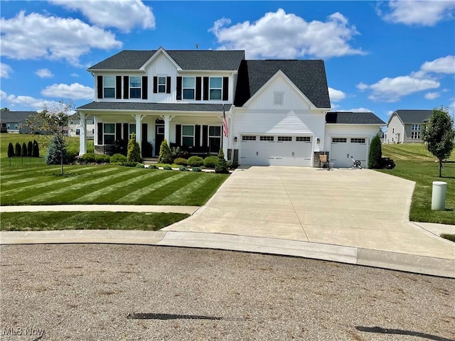
M454 340L455 280L232 251L1 246L1 340Z

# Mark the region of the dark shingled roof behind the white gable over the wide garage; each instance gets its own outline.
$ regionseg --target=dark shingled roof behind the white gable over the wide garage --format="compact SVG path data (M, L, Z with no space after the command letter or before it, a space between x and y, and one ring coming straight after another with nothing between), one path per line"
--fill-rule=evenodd
M316 107L331 107L323 60L243 60L237 78L234 104L242 107L279 70Z

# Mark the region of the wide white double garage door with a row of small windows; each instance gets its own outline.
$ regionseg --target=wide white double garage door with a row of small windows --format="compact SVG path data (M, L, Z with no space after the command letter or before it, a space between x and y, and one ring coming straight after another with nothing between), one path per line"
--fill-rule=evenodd
M240 164L251 166L311 166L312 136L244 135Z

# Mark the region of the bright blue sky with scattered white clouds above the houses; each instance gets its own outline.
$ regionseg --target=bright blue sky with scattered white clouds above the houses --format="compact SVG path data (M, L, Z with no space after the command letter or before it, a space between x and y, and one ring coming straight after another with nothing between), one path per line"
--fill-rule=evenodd
M335 110L455 112L455 1L1 1L1 107L93 99L120 50L323 59Z

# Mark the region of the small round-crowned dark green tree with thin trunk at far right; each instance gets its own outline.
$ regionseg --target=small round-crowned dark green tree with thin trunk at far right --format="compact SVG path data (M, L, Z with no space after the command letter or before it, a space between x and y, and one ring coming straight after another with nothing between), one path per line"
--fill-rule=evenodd
M434 108L432 116L422 125L422 141L439 161L439 178L442 176L442 161L449 158L454 149L454 139L455 124L449 109L442 106Z

